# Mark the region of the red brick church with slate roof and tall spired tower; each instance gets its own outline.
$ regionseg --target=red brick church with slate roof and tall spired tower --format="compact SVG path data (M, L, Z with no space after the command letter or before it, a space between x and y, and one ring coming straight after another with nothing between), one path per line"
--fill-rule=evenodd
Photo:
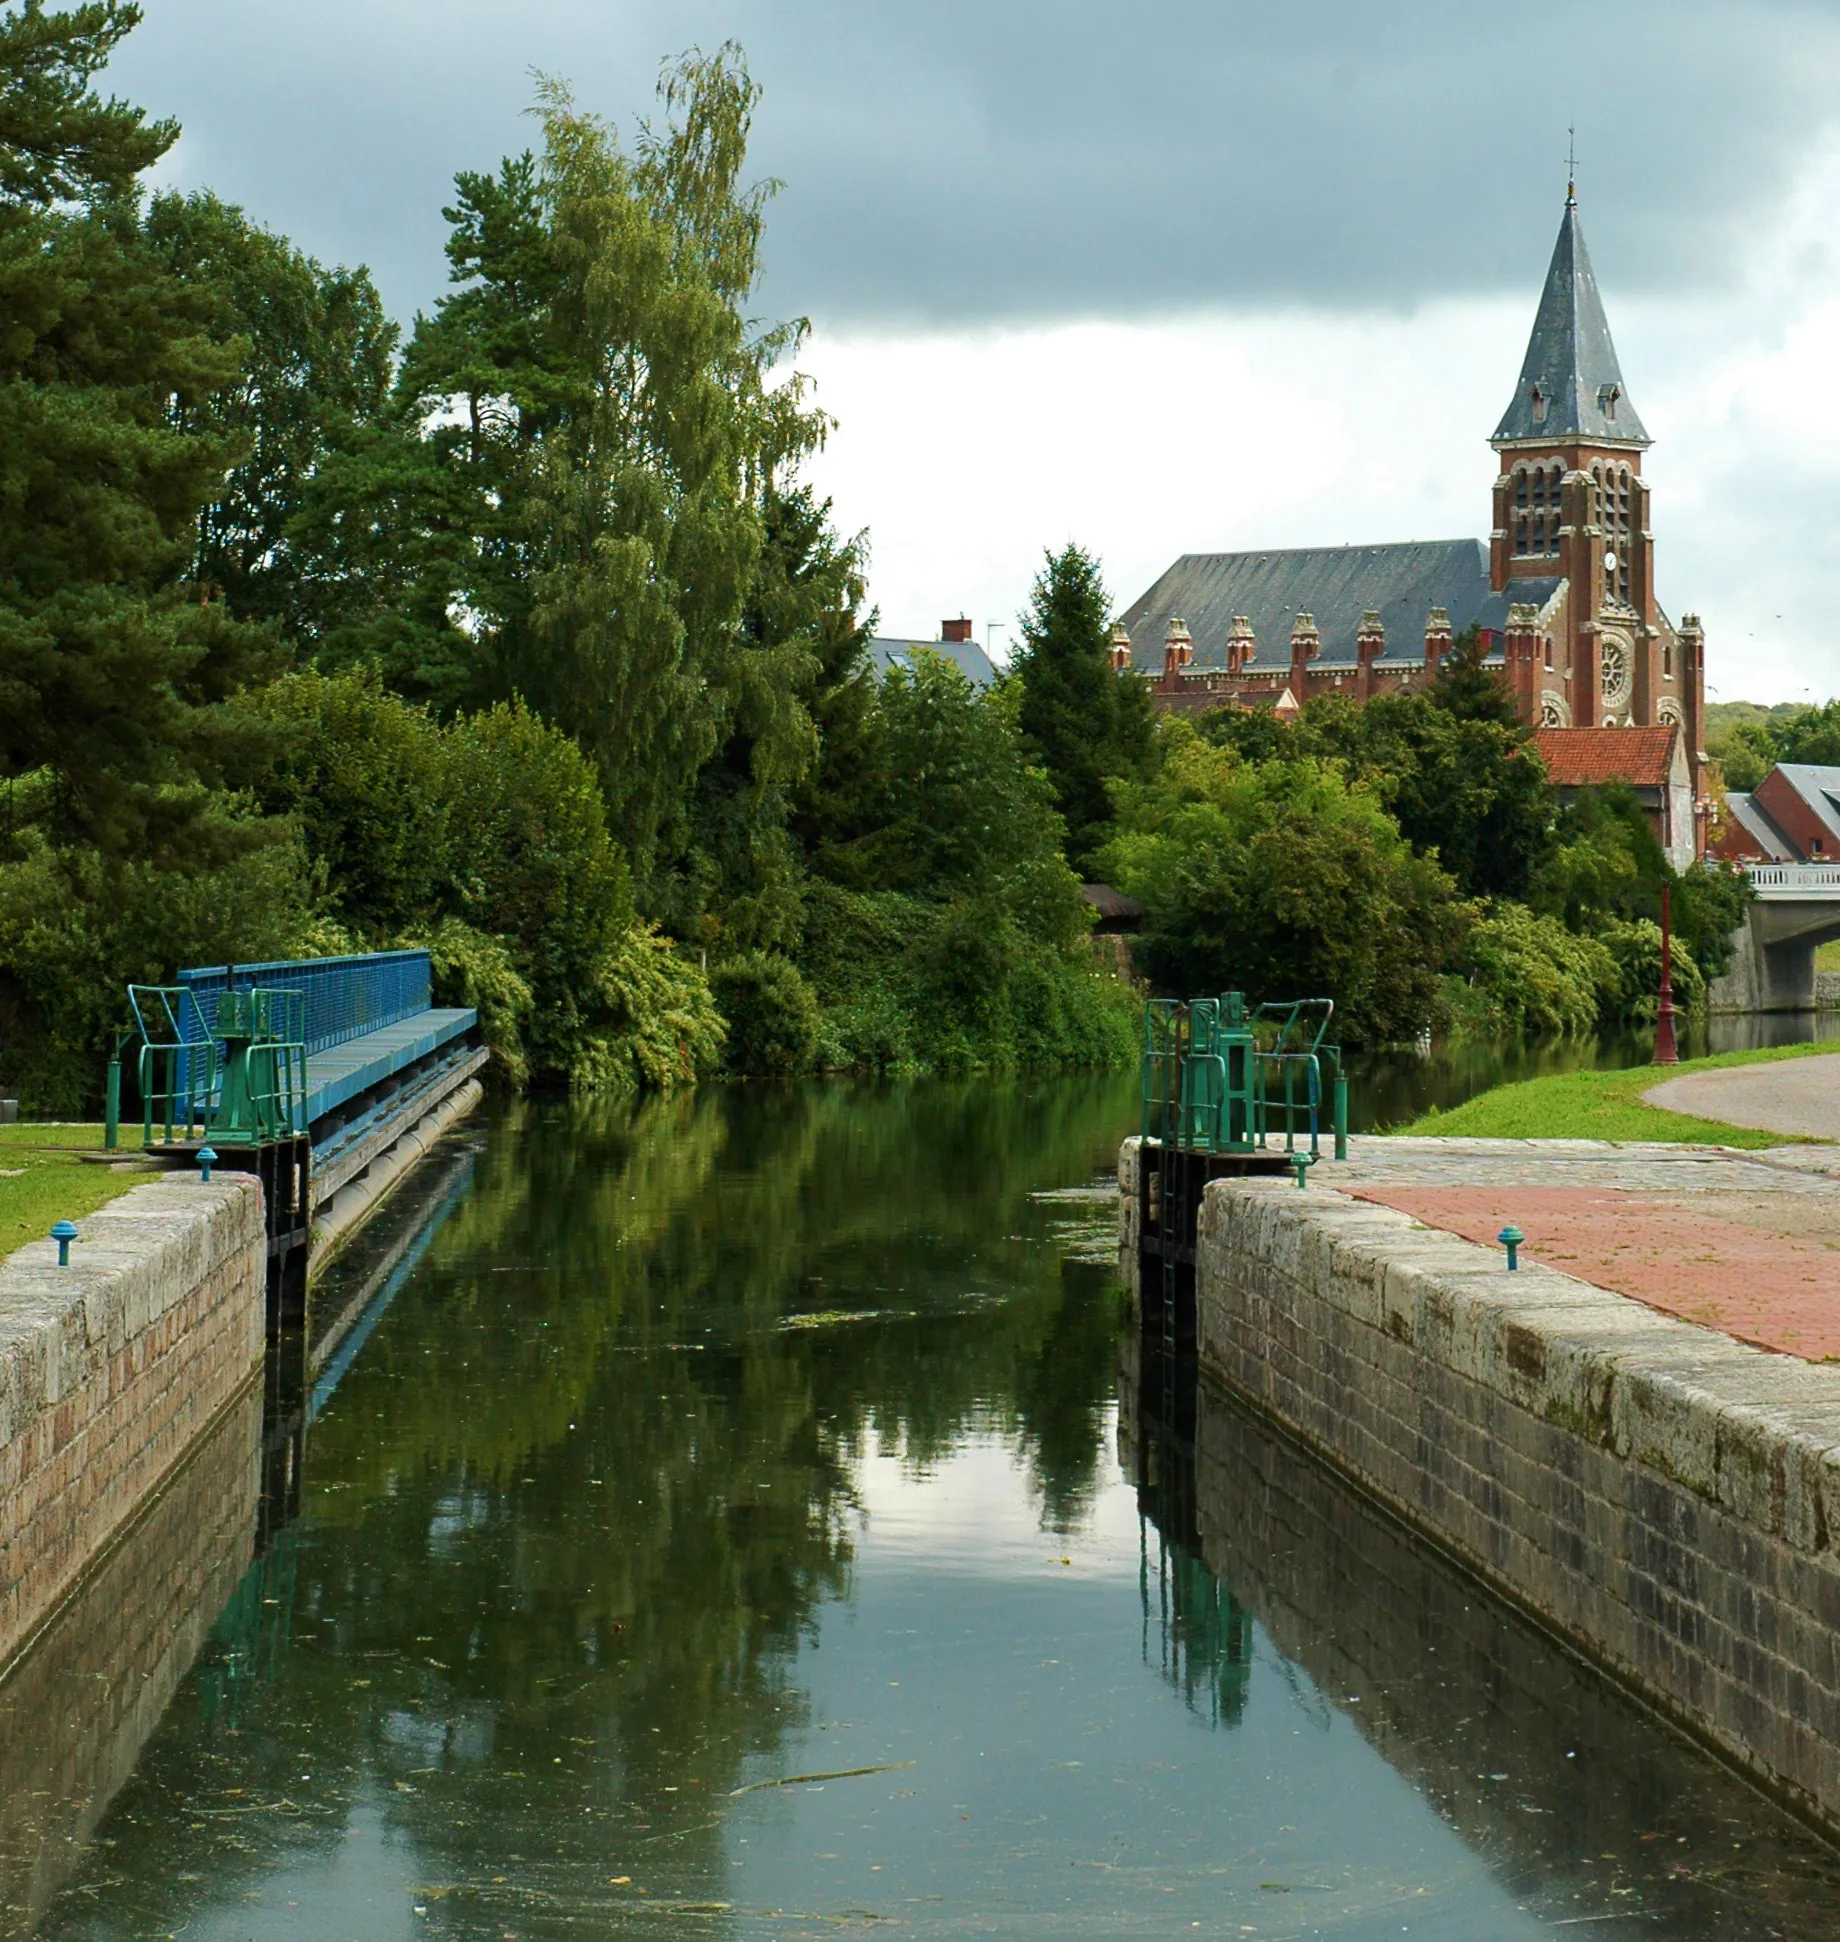
M1690 860L1704 853L1706 641L1696 616L1677 625L1655 598L1650 437L1622 385L1572 188L1490 445L1500 464L1486 542L1185 553L1121 616L1113 664L1146 676L1166 711L1290 715L1323 693L1411 693L1475 627L1562 788L1638 783L1638 769L1648 783L1667 742L1677 787L1663 788L1657 835Z

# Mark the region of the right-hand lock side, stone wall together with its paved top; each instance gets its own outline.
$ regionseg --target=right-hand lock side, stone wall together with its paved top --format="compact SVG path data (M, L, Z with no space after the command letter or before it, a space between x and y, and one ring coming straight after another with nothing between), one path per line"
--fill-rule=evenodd
M1807 1354L1840 1340L1828 1163L1368 1140L1304 1192L1216 1181L1197 1344L1378 1503L1840 1827L1840 1365ZM1135 1266L1135 1142L1121 1187ZM1510 1274L1477 1241L1521 1204L1535 1258ZM1772 1274L1799 1276L1803 1354L1756 1346Z

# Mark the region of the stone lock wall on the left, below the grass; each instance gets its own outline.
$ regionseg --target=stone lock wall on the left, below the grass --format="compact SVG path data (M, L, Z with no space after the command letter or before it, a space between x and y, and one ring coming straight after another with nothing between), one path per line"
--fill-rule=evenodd
M262 1190L150 1181L0 1262L0 1676L262 1365Z

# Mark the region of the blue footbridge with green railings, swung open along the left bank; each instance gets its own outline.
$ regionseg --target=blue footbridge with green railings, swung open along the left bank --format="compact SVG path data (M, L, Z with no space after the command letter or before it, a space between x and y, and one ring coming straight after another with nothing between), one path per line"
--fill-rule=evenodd
M150 1154L256 1171L270 1235L313 1266L480 1099L478 1012L431 1002L429 954L206 965L128 990ZM111 1144L120 1124L109 1076Z

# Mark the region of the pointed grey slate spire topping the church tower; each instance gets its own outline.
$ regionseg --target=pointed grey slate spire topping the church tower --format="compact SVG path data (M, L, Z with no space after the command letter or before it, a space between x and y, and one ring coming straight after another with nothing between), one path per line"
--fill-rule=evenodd
M1597 295L1597 278L1578 223L1578 196L1570 184L1521 381L1488 443L1552 445L1562 439L1636 447L1650 443L1622 390L1617 346Z

